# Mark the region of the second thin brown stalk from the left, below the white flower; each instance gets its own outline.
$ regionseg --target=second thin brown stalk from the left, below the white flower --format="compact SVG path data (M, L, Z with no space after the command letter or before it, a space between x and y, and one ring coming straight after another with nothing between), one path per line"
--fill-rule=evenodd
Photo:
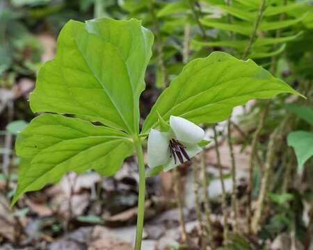
M200 224L200 235L201 235L201 248L202 250L207 249L207 240L205 239L205 226L202 221L202 213L200 209L200 197L199 197L199 183L198 183L198 164L193 160L192 163L192 173L193 173L193 194L195 196L195 215Z

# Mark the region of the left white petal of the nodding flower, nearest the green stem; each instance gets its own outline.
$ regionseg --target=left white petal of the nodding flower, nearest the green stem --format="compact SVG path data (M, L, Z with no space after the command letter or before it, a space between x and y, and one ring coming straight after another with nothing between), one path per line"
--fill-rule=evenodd
M147 164L149 167L157 167L168 161L170 158L168 143L168 133L151 129L147 142Z

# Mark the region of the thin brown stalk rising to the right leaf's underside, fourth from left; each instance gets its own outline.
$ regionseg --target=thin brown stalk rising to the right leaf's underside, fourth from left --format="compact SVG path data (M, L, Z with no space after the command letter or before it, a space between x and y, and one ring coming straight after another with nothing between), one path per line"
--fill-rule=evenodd
M217 165L218 165L218 171L220 174L220 184L222 185L222 210L223 210L223 243L228 243L228 213L227 213L227 206L226 206L226 191L225 191L225 183L223 178L223 169L222 165L220 163L220 151L218 150L218 135L216 131L216 127L213 126L214 131L214 149L216 152L216 158L217 158Z

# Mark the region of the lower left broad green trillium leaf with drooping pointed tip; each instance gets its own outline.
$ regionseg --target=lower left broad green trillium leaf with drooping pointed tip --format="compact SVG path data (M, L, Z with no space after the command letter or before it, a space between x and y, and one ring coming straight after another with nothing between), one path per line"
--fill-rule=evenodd
M22 165L13 203L24 192L56 183L70 171L114 174L133 152L128 135L113 128L62 115L40 115L17 137Z

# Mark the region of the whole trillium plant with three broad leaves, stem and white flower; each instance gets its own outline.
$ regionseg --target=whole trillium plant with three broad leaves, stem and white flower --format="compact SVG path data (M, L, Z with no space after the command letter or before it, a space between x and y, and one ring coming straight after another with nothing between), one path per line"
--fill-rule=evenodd
M31 110L41 113L17 136L21 159L14 204L24 193L88 169L111 176L128 156L138 159L135 249L141 249L145 178L168 171L207 142L197 124L220 122L234 106L280 93L298 94L252 60L216 51L187 63L163 90L140 127L139 98L154 35L136 19L69 21L56 56L38 73ZM147 140L145 172L143 142Z

